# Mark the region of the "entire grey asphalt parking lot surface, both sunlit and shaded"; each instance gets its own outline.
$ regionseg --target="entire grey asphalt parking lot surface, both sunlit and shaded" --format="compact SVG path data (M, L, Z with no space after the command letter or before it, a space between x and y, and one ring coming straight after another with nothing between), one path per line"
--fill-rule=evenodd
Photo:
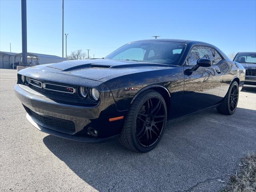
M27 120L14 95L16 70L0 69L0 191L217 192L256 152L256 90L240 92L234 115L216 109L168 123L145 154L117 140L86 144L50 136Z

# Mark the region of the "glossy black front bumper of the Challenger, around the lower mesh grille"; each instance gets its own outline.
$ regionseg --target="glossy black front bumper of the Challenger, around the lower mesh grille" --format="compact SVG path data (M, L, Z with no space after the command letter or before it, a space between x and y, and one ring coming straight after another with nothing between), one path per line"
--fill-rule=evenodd
M86 107L63 104L45 97L25 85L16 84L14 89L16 96L28 112L26 115L28 121L38 130L62 138L82 142L100 142L115 138L120 133L123 120L109 122L108 119L126 115L126 112L116 110L111 92L102 94L100 103L97 106ZM46 124L34 118L32 113L30 113L31 111L42 116L73 122L75 130L71 134L54 130L54 128L49 125L46 126ZM98 131L98 137L95 138L88 134L89 127Z

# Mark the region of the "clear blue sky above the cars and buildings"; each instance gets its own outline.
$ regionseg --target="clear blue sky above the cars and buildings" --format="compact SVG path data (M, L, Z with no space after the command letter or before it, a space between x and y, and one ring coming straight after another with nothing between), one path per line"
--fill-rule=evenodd
M256 0L64 1L68 54L103 57L134 40L200 40L224 53L256 51ZM28 52L62 55L62 0L27 0ZM22 52L21 2L0 0L0 50ZM64 50L65 56L65 50Z

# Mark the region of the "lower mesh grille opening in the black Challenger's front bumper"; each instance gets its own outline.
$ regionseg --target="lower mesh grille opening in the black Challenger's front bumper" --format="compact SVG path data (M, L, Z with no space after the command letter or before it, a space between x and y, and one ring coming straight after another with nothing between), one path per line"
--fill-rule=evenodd
M74 134L76 132L75 124L72 121L55 118L51 116L40 115L32 110L29 110L31 117L42 126L46 126L52 130Z

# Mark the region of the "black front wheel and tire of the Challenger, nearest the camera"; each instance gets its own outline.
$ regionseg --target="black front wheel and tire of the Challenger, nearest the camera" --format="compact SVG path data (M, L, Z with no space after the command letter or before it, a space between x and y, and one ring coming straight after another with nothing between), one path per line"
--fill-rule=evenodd
M130 150L148 152L160 142L166 120L164 98L154 90L146 90L132 103L119 141Z

